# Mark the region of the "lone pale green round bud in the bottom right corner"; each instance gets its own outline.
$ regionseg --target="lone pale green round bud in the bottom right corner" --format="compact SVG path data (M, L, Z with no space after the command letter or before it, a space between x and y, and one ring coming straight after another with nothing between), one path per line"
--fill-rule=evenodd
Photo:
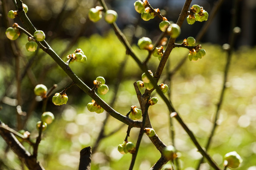
M242 158L236 151L227 153L224 156L224 166L228 166L229 168L232 169L238 168L242 161Z

